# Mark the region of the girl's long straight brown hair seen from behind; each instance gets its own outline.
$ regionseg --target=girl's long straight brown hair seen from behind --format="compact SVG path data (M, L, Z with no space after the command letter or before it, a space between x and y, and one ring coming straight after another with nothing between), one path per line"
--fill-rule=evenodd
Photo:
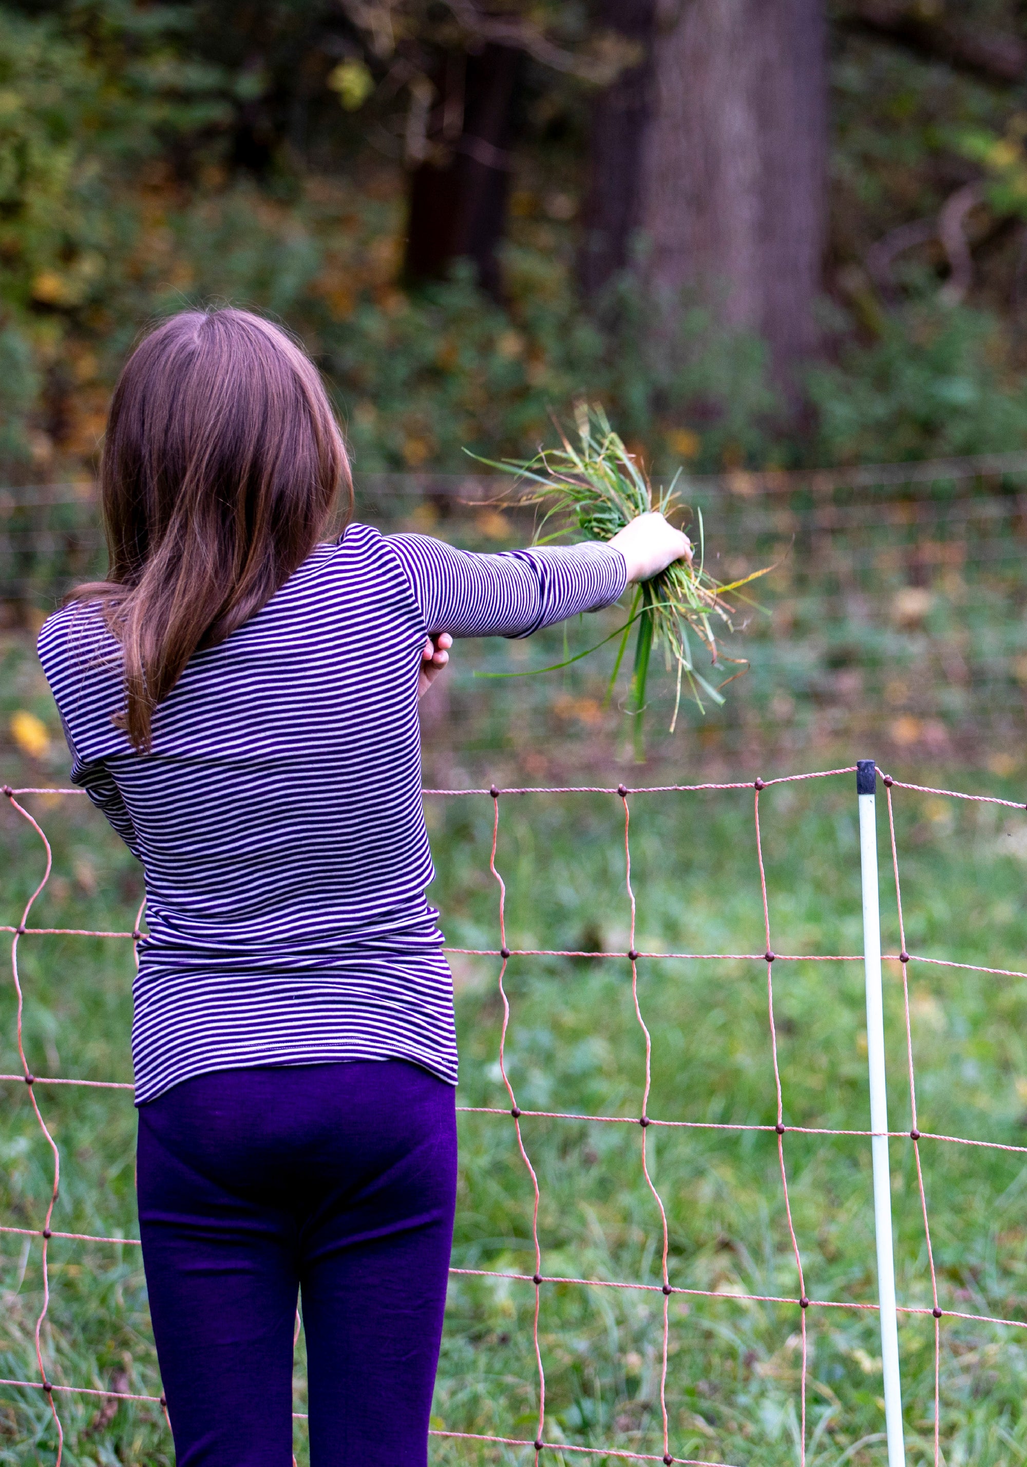
M142 339L114 389L101 500L110 566L79 585L122 647L136 750L186 662L264 606L324 534L352 480L317 368L249 311L183 311Z

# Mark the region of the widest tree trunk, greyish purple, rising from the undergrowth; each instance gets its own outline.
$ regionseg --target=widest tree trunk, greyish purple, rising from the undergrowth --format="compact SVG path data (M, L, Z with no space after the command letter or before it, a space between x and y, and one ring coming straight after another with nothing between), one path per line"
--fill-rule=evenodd
M826 216L823 0L660 0L640 229L684 292L757 332L778 380L816 345Z

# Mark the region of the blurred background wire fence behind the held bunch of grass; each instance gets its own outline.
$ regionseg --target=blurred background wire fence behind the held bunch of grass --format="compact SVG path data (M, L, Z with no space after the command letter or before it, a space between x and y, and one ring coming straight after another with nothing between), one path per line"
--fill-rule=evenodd
M1015 772L1011 751L1027 748L1027 455L737 471L694 477L688 491L714 574L775 566L753 588L769 615L741 606L739 635L726 648L748 660L747 676L723 709L682 710L707 767L756 758L801 767L873 741L882 757ZM496 475L368 474L358 477L357 513L384 531L505 549L533 533L512 493ZM0 490L0 610L9 623L34 625L103 568L92 484ZM571 650L599 641L593 631L572 629ZM565 782L582 756L602 767L625 742L625 720L604 698L612 648L559 675L491 682L481 700L477 675L559 662L562 635L541 634L530 653L502 641L461 648L425 706L461 751L452 782L477 783L497 769L508 782ZM666 732L672 698L669 679L647 717L650 756L679 763L679 742ZM509 760L497 760L505 751ZM445 767L434 778L450 782Z

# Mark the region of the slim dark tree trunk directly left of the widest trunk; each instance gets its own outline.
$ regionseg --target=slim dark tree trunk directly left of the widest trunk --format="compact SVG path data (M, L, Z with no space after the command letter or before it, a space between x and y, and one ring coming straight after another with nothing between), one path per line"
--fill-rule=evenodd
M588 186L582 208L578 277L587 296L631 263L638 232L640 172L653 88L656 0L602 0L597 25L638 48L635 66L593 101Z

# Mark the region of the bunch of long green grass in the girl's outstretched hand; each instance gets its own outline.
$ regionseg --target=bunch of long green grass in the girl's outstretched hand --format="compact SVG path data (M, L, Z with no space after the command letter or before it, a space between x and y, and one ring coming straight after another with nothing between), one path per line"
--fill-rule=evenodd
M560 431L558 449L543 449L533 459L503 459L499 464L491 464L493 468L516 474L519 480L538 486L521 499L521 503L536 503L544 508L540 533L536 537L538 544L550 543L575 528L591 540L612 540L638 515L651 511L659 511L668 519L682 516L685 503L676 491L681 469L668 489L654 491L600 406L582 402L577 408L575 418L577 447ZM543 534L541 531L547 527L550 527L549 533ZM666 571L634 588L628 621L612 634L612 637L619 637L621 643L610 676L610 691L621 672L631 628L637 625L628 711L637 719L635 742L640 753L653 650L662 650L668 672L676 673L673 716L670 719L670 732L673 732L684 687L688 687L700 709L704 707L703 698L723 703L720 689L748 666L739 659L722 656L714 626L726 632L734 631L735 606L728 600L728 596L764 575L767 569L754 571L751 575L729 584L722 584L712 577L706 569L706 537L700 512L698 546L694 559L691 562L675 560ZM714 667L728 662L735 665L735 672L717 685L710 682L695 666L692 638L701 643ZM588 651L578 653L578 657L587 657L596 650L596 647L590 647ZM577 662L578 659L568 660ZM565 667L566 662L555 666Z

